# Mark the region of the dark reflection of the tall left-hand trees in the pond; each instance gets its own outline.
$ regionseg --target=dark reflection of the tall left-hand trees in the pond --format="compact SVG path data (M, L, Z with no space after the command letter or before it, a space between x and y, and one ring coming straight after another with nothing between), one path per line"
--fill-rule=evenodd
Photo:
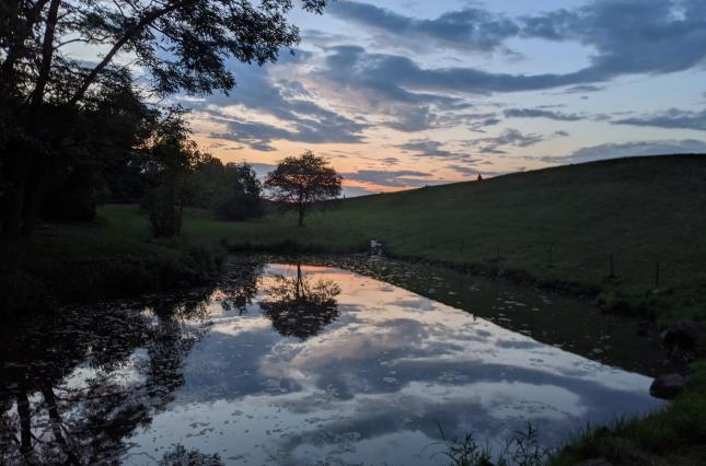
M117 463L173 399L206 295L66 310L0 330L0 464Z

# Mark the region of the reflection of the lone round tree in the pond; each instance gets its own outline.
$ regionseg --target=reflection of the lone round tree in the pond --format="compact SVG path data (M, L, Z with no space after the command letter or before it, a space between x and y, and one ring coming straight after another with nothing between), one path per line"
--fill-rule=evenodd
M332 280L310 283L298 264L296 277L276 276L274 281L263 289L259 306L280 335L305 340L338 317L340 288Z

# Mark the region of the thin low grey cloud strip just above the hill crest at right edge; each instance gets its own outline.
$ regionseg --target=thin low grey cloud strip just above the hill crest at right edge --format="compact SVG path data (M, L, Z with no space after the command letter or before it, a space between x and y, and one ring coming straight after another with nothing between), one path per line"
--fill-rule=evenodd
M542 160L545 162L554 163L582 163L603 159L684 153L706 154L706 141L699 141L696 139L683 139L606 143L582 148L568 155L546 156L542 158Z

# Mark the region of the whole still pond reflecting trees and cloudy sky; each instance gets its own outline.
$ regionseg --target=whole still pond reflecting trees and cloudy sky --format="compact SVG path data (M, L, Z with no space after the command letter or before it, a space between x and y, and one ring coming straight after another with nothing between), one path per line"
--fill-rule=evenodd
M335 267L243 260L213 290L5 325L0 464L444 464L442 432L496 446L532 422L553 446L589 422L662 406L639 364L588 359L519 323L574 318L570 307L602 318L586 304L440 281L427 286L473 304ZM588 356L625 352L605 341L634 334L597 328L581 331ZM655 352L649 338L632 345L641 359Z

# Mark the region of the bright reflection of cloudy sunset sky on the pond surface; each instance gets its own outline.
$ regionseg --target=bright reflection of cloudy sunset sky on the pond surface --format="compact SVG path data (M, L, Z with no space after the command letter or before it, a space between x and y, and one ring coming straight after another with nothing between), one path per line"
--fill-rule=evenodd
M553 444L588 421L660 406L645 376L362 276L302 271L340 288L337 318L309 337L274 331L262 290L296 277L293 266L268 266L242 314L223 312L216 293L184 387L132 439L136 452L182 442L250 464L428 464L439 426L499 442L532 420Z

